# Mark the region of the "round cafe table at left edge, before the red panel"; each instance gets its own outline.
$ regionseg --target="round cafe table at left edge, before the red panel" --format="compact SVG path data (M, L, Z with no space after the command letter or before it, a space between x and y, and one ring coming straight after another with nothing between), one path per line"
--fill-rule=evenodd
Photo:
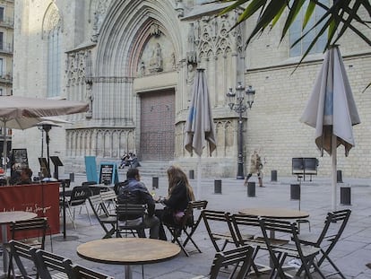
M4 265L4 276L8 272L8 254L4 247L4 244L7 243L7 224L11 222L29 220L35 218L38 214L26 211L11 211L11 212L0 212L0 224L1 224L1 237L2 237L2 246L3 246L3 265ZM2 275L0 275L0 278Z

